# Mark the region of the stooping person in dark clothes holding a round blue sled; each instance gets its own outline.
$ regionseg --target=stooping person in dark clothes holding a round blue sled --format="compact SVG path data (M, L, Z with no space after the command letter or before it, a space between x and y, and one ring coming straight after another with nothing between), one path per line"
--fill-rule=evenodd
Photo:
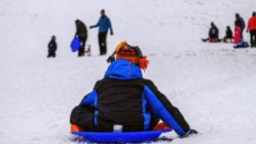
M74 37L78 37L81 41L81 46L78 50L78 57L84 56L85 43L87 40L87 28L81 20L76 20L76 34Z

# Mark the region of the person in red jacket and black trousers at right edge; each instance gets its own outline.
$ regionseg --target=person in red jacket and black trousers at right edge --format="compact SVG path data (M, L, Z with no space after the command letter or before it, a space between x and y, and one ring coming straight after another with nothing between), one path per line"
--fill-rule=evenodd
M248 21L247 30L248 33L250 30L251 35L251 47L256 47L256 12L252 13L252 17Z

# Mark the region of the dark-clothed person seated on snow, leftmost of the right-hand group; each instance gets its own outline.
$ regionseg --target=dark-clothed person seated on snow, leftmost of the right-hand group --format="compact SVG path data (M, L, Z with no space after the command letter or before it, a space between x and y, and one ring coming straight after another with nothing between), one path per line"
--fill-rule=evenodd
M211 22L211 28L209 30L209 37L203 39L203 42L209 41L209 42L221 42L221 39L219 39L219 29L214 25L213 22Z

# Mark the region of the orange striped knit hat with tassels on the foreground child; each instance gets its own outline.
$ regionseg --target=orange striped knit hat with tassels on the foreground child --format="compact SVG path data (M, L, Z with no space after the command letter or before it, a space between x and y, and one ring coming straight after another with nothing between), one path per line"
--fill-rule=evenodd
M125 41L121 42L117 45L114 53L110 55L107 59L107 62L115 61L114 55L116 54L116 60L125 59L128 60L135 65L138 65L141 69L145 70L148 66L147 57L142 55L140 48L138 46L130 46Z

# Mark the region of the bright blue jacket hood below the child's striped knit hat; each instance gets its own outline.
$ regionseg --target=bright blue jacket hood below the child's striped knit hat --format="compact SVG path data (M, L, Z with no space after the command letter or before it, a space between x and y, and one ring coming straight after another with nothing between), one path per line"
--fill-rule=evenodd
M141 69L130 61L119 59L112 62L104 77L130 80L142 78Z

